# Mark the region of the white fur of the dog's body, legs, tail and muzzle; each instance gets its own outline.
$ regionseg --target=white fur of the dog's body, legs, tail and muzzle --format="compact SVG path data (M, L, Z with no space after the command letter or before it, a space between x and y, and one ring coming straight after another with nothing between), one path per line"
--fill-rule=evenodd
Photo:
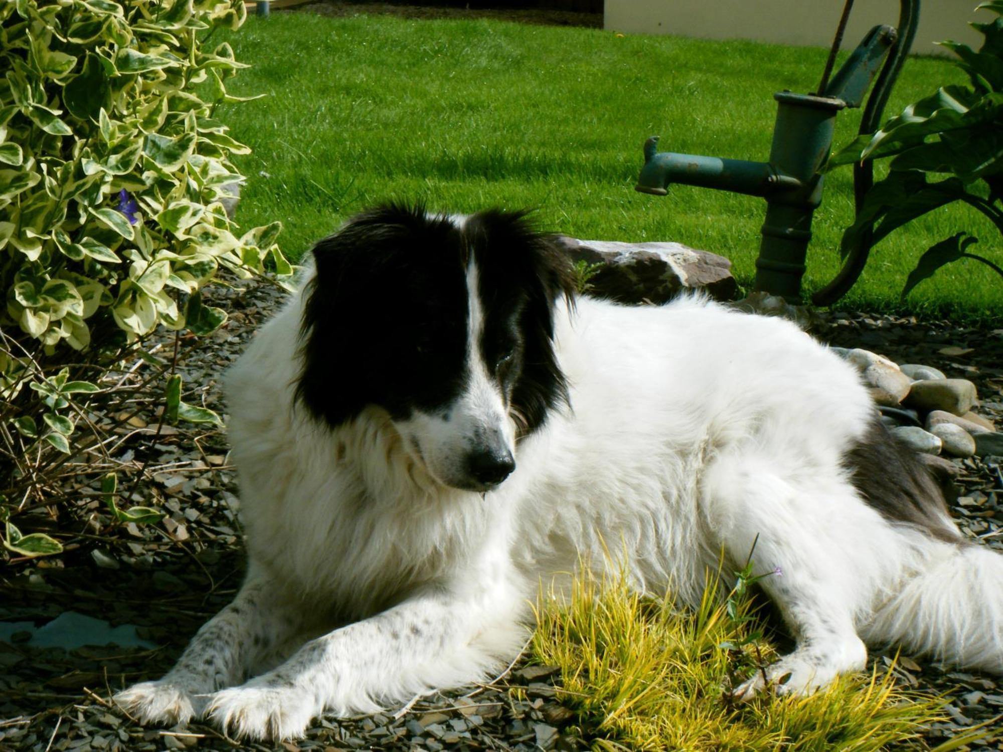
M559 303L572 407L517 448L476 373L448 421L394 424L373 407L321 425L294 404L302 307L295 296L227 379L247 582L171 673L117 696L140 718L208 713L284 738L325 711L468 683L526 640L541 578L606 561L609 543L629 552L637 588L692 604L722 548L741 561L758 538L758 570L782 571L762 583L797 641L766 671L790 674L777 691L861 669L865 642L1003 670L1003 556L861 499L842 460L873 404L855 370L793 325L700 298ZM486 494L440 482L484 430L515 452L512 476ZM739 694L762 686L756 676Z

